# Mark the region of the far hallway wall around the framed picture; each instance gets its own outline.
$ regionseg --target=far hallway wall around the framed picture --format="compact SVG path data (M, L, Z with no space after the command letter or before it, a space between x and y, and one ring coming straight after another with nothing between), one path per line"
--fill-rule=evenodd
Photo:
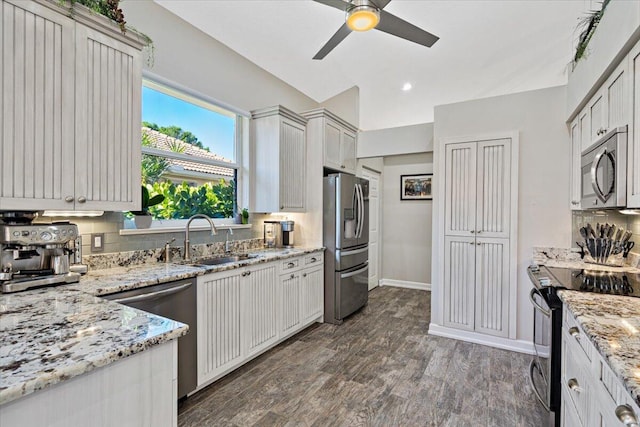
M431 201L401 201L400 175L431 173L433 153L384 158L382 280L431 283Z

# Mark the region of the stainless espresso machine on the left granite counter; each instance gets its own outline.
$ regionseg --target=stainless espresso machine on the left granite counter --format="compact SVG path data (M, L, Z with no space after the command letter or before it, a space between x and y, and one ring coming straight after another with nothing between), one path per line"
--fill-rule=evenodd
M32 224L31 215L0 215L0 289L4 293L80 280L78 227Z

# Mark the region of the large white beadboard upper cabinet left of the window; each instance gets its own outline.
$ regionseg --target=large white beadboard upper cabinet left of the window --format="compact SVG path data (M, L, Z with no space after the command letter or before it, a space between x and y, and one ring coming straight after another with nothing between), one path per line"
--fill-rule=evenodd
M0 209L138 209L142 44L77 4L68 16L2 1Z

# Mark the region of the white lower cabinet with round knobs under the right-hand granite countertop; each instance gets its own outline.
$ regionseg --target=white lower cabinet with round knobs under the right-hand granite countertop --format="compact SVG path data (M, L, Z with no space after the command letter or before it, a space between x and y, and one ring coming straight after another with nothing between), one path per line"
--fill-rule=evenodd
M640 408L566 307L562 326L561 378L562 426L639 425Z

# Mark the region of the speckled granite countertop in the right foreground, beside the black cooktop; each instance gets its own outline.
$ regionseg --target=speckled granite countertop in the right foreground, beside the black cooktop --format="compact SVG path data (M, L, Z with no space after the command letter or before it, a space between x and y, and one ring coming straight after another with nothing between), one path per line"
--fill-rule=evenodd
M576 291L558 295L640 405L640 298Z

